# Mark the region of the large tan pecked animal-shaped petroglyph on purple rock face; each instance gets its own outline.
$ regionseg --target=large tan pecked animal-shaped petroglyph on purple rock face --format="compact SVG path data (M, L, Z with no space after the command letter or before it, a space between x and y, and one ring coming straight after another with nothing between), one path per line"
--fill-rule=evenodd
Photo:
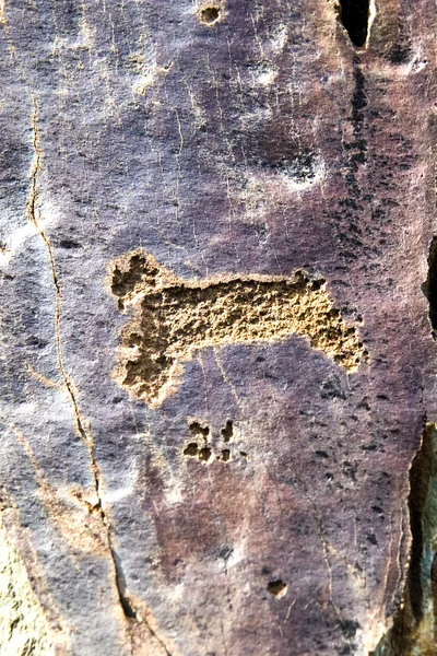
M350 372L368 361L326 281L304 271L186 280L138 249L111 262L110 289L119 311L131 315L115 378L150 407L177 389L182 363L206 347L276 342L296 333Z

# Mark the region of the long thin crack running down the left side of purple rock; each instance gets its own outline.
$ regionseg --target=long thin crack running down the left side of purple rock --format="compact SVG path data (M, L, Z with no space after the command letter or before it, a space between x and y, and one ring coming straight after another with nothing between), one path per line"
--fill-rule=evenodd
M32 99L32 124L31 124L32 125L32 148L34 151L34 157L33 157L33 162L32 162L32 166L31 166L31 189L29 189L27 203L26 203L26 216L29 220L29 222L34 225L34 227L35 227L36 232L38 233L38 235L40 236L40 238L43 239L46 250L47 250L49 263L50 263L51 278L52 278L52 282L54 282L54 286L55 286L56 358L57 358L57 364L58 364L58 368L59 368L64 388L68 393L70 402L71 402L71 406L73 409L76 431L88 452L92 480L93 480L95 495L97 499L97 503L91 508L91 512L93 512L93 511L97 512L97 514L99 515L99 517L102 519L104 529L105 529L108 552L109 552L110 561L113 563L113 569L114 569L115 585L116 585L120 607L121 607L125 618L127 619L127 621L134 620L137 622L143 623L146 626L150 635L160 644L160 646L164 651L165 655L172 656L172 654L168 652L167 647L165 646L164 642L157 636L156 632L149 624L146 618L144 618L142 616L140 617L139 612L137 611L137 609L133 606L133 602L126 595L125 577L123 577L121 567L118 564L118 559L117 559L116 550L114 547L114 538L113 538L114 527L111 526L109 517L105 513L104 507L103 507L103 500L102 500L102 492L101 492L103 476L101 473L101 470L98 468L97 460L95 457L94 437L93 437L93 434L92 434L90 427L86 426L86 424L88 422L86 422L84 420L84 418L81 415L79 402L78 402L75 391L74 391L74 385L73 385L73 383L64 367L64 364L63 364L62 348L61 348L61 331L60 331L61 289L60 289L60 284L59 284L59 277L58 277L57 269L56 269L54 249L52 249L49 237L47 236L47 234L44 231L44 225L42 222L40 211L39 211L39 207L38 207L37 181L38 181L38 176L40 173L42 154L40 154L40 150L39 150L38 106L36 103L36 98L32 92L31 92L31 99Z

